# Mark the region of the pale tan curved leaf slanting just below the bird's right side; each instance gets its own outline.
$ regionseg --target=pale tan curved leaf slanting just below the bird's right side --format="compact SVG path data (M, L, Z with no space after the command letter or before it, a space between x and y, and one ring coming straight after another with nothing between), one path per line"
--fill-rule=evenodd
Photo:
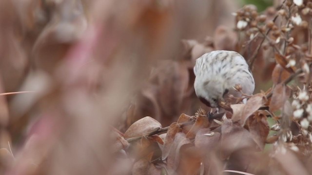
M245 125L248 117L252 115L256 110L259 109L262 105L267 102L267 98L264 94L256 94L252 96L246 103L243 108L242 116L240 120L240 124L243 126Z

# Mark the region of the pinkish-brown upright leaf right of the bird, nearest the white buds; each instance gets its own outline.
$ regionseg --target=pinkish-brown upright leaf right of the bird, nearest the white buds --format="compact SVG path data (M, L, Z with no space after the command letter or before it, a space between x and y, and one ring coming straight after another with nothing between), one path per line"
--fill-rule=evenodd
M275 112L284 106L286 100L290 94L286 91L286 86L283 84L278 84L273 89L273 94L270 102L270 111Z

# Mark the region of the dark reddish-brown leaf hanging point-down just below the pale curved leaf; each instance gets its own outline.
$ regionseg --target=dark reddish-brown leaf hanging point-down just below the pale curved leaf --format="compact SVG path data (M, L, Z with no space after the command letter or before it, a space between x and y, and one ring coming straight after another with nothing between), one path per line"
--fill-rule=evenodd
M254 117L248 119L247 125L252 138L262 151L270 131L267 117L256 113Z

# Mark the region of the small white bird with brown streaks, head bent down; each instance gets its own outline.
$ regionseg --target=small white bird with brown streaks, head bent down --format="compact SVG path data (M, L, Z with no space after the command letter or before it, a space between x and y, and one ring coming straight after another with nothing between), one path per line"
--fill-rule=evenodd
M196 59L194 88L205 105L218 107L226 94L241 97L234 87L239 84L242 92L252 95L254 77L244 57L234 51L212 51Z

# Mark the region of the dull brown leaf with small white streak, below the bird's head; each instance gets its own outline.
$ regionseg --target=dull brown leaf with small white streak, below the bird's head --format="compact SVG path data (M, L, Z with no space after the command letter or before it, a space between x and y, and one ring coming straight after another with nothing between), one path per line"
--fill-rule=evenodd
M200 129L196 133L195 147L204 151L203 153L210 153L219 146L220 133L210 131L209 128Z

